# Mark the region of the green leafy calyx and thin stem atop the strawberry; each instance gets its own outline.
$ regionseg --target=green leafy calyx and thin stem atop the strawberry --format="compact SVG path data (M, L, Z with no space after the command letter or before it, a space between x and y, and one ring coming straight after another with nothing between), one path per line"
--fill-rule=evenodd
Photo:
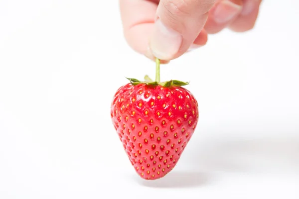
M178 80L170 80L166 82L160 82L160 60L156 58L156 71L155 71L155 81L151 80L148 75L145 76L145 81L139 81L134 78L127 78L132 85L138 85L138 84L147 84L152 86L162 86L162 87L171 87L171 86L185 86L188 85L188 82L182 82Z

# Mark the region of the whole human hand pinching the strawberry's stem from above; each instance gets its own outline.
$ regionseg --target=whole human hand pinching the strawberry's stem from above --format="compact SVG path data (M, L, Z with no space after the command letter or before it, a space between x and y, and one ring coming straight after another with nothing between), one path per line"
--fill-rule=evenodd
M261 1L120 0L120 10L128 44L151 60L168 63L205 45L208 34L252 29Z

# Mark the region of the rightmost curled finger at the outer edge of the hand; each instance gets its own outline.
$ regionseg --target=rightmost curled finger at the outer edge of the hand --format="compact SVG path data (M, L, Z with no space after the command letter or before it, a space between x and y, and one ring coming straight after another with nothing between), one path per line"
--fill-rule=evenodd
M259 8L262 0L243 0L243 9L240 15L229 28L236 32L251 30L257 20Z

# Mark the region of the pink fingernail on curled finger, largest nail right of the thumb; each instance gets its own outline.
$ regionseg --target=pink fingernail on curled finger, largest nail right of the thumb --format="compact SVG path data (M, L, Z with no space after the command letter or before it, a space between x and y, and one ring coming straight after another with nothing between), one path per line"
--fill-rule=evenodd
M241 5L237 5L229 0L220 1L214 10L214 20L217 23L228 23L231 19L236 17L241 10Z

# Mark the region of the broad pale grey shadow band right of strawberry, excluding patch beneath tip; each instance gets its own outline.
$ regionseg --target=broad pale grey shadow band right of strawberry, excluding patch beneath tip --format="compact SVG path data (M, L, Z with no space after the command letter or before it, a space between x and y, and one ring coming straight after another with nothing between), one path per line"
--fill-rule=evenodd
M203 140L201 140L203 142ZM187 164L196 171L299 172L299 138L246 138L193 143Z

